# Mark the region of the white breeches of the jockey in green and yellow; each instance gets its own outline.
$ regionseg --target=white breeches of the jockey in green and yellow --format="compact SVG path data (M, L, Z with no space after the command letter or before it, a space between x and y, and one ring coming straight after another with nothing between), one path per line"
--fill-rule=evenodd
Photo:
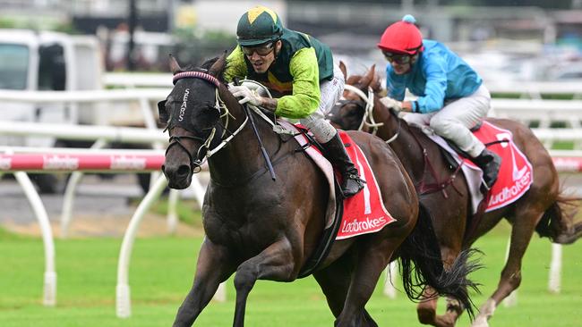
M331 80L325 80L320 84L320 106L314 113L299 120L302 125L313 133L313 136L318 142L327 143L338 133L338 130L331 126L330 122L325 120L325 117L330 113L333 105L338 102L344 93L345 83L344 74L334 64L333 78Z

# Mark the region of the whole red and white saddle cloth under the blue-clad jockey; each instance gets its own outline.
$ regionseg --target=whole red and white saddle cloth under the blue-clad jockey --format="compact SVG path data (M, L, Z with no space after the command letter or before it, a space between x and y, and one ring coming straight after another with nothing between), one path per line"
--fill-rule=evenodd
M473 214L475 214L479 203L484 199L484 195L480 191L483 172L469 159L458 155L443 138L434 133L426 133L424 128L423 130L429 138L447 150L458 164L461 164L461 171L465 174L471 192L471 203ZM510 130L503 130L491 122L483 122L481 128L473 131L473 134L484 144L494 142L487 148L501 156L499 176L487 195L485 212L499 209L517 201L532 185L534 175L532 165L527 160L526 155L513 142L513 134Z

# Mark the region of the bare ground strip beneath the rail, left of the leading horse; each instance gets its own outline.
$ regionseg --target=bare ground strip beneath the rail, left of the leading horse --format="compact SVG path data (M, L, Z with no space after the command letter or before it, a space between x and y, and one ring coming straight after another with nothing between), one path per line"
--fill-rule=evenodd
M115 179L103 180L97 175L83 176L75 192L73 215L68 237L123 237L137 205L143 197L133 175L119 175ZM63 194L40 194L48 214L53 235L61 235L60 220L63 211ZM14 233L41 236L29 200L20 185L13 179L0 181L0 226ZM156 214L150 209L138 227L139 237L169 235L166 214ZM203 235L201 227L179 222L177 236Z

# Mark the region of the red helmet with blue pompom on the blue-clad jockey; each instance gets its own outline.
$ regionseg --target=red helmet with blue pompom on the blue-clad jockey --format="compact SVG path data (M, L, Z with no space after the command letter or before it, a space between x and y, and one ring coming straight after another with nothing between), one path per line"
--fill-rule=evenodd
M415 25L415 17L405 15L402 21L390 25L380 38L378 47L382 50L415 55L424 49L423 35Z

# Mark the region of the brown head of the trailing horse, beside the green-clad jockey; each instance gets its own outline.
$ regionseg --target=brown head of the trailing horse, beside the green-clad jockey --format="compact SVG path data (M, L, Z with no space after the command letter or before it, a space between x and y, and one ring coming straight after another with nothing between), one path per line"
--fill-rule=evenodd
M344 66L345 67L345 66ZM346 80L343 99L328 113L330 122L342 130L360 130L368 106L368 88L380 88L375 65L364 76L352 75ZM345 70L345 68L344 68ZM346 75L346 72L344 72ZM359 92L358 92L359 91Z

